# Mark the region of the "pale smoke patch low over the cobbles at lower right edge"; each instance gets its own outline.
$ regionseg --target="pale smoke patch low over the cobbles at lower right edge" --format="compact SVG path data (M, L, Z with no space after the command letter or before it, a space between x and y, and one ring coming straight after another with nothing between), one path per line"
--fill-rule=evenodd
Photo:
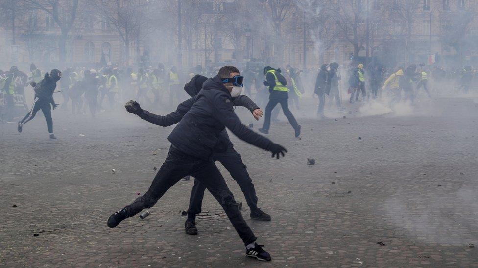
M417 242L468 244L478 239L476 233L473 234L477 221L477 200L477 192L463 186L447 194L446 201L437 195L416 195L406 199L393 197L383 204L382 209L385 219L405 230Z

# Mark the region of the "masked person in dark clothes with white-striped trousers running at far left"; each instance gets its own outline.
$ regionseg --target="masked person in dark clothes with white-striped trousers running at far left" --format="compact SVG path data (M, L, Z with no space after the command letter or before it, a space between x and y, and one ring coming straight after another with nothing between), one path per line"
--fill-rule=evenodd
M18 132L22 132L23 125L26 124L28 121L32 120L39 110L42 110L43 115L45 116L45 120L47 121L47 128L48 133L50 135L50 139L56 139L55 135L53 134L51 107L53 107L53 110L58 107L58 104L56 104L55 100L53 100L53 92L56 88L56 82L58 82L60 78L60 70L53 69L49 74L46 73L45 77L38 84L33 81L30 83L30 85L33 86L33 90L35 91L35 99L31 110L25 115L22 121L18 122Z

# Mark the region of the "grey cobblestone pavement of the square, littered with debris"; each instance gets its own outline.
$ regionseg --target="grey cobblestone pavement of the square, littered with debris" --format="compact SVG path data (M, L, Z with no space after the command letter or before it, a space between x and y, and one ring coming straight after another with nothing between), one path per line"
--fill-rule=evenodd
M50 141L40 114L21 134L0 124L0 266L477 267L478 249L469 247L478 246L477 103L417 106L413 116L361 117L357 106L324 120L296 112L300 140L285 122L268 135L289 150L280 160L233 137L272 221L251 220L239 186L223 174L268 263L245 256L209 193L199 235L185 234L192 180L172 187L145 220L106 227L149 186L171 127L123 111L91 120L60 110Z

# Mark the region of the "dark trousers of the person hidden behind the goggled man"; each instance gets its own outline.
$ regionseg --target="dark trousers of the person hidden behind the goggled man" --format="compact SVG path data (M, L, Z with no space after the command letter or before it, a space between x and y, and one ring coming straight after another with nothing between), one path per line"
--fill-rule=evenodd
M242 163L240 154L230 146L224 153L215 153L214 161L219 161L231 174L231 177L239 184L239 187L244 194L247 205L254 211L257 209L256 189L252 183L252 179L247 172L247 167ZM188 213L199 214L202 209L202 200L204 198L204 191L206 186L199 180L194 180L194 186L191 190L191 197L189 199Z

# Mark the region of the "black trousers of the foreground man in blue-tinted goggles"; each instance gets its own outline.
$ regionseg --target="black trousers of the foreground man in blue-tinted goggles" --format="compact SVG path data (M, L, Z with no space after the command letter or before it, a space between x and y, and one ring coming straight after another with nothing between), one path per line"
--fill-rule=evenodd
M256 241L257 238L242 218L239 206L214 162L189 156L173 146L169 148L167 158L154 177L148 191L125 207L127 215L132 217L144 208L154 206L171 186L187 175L193 176L211 192L226 212L245 245Z

